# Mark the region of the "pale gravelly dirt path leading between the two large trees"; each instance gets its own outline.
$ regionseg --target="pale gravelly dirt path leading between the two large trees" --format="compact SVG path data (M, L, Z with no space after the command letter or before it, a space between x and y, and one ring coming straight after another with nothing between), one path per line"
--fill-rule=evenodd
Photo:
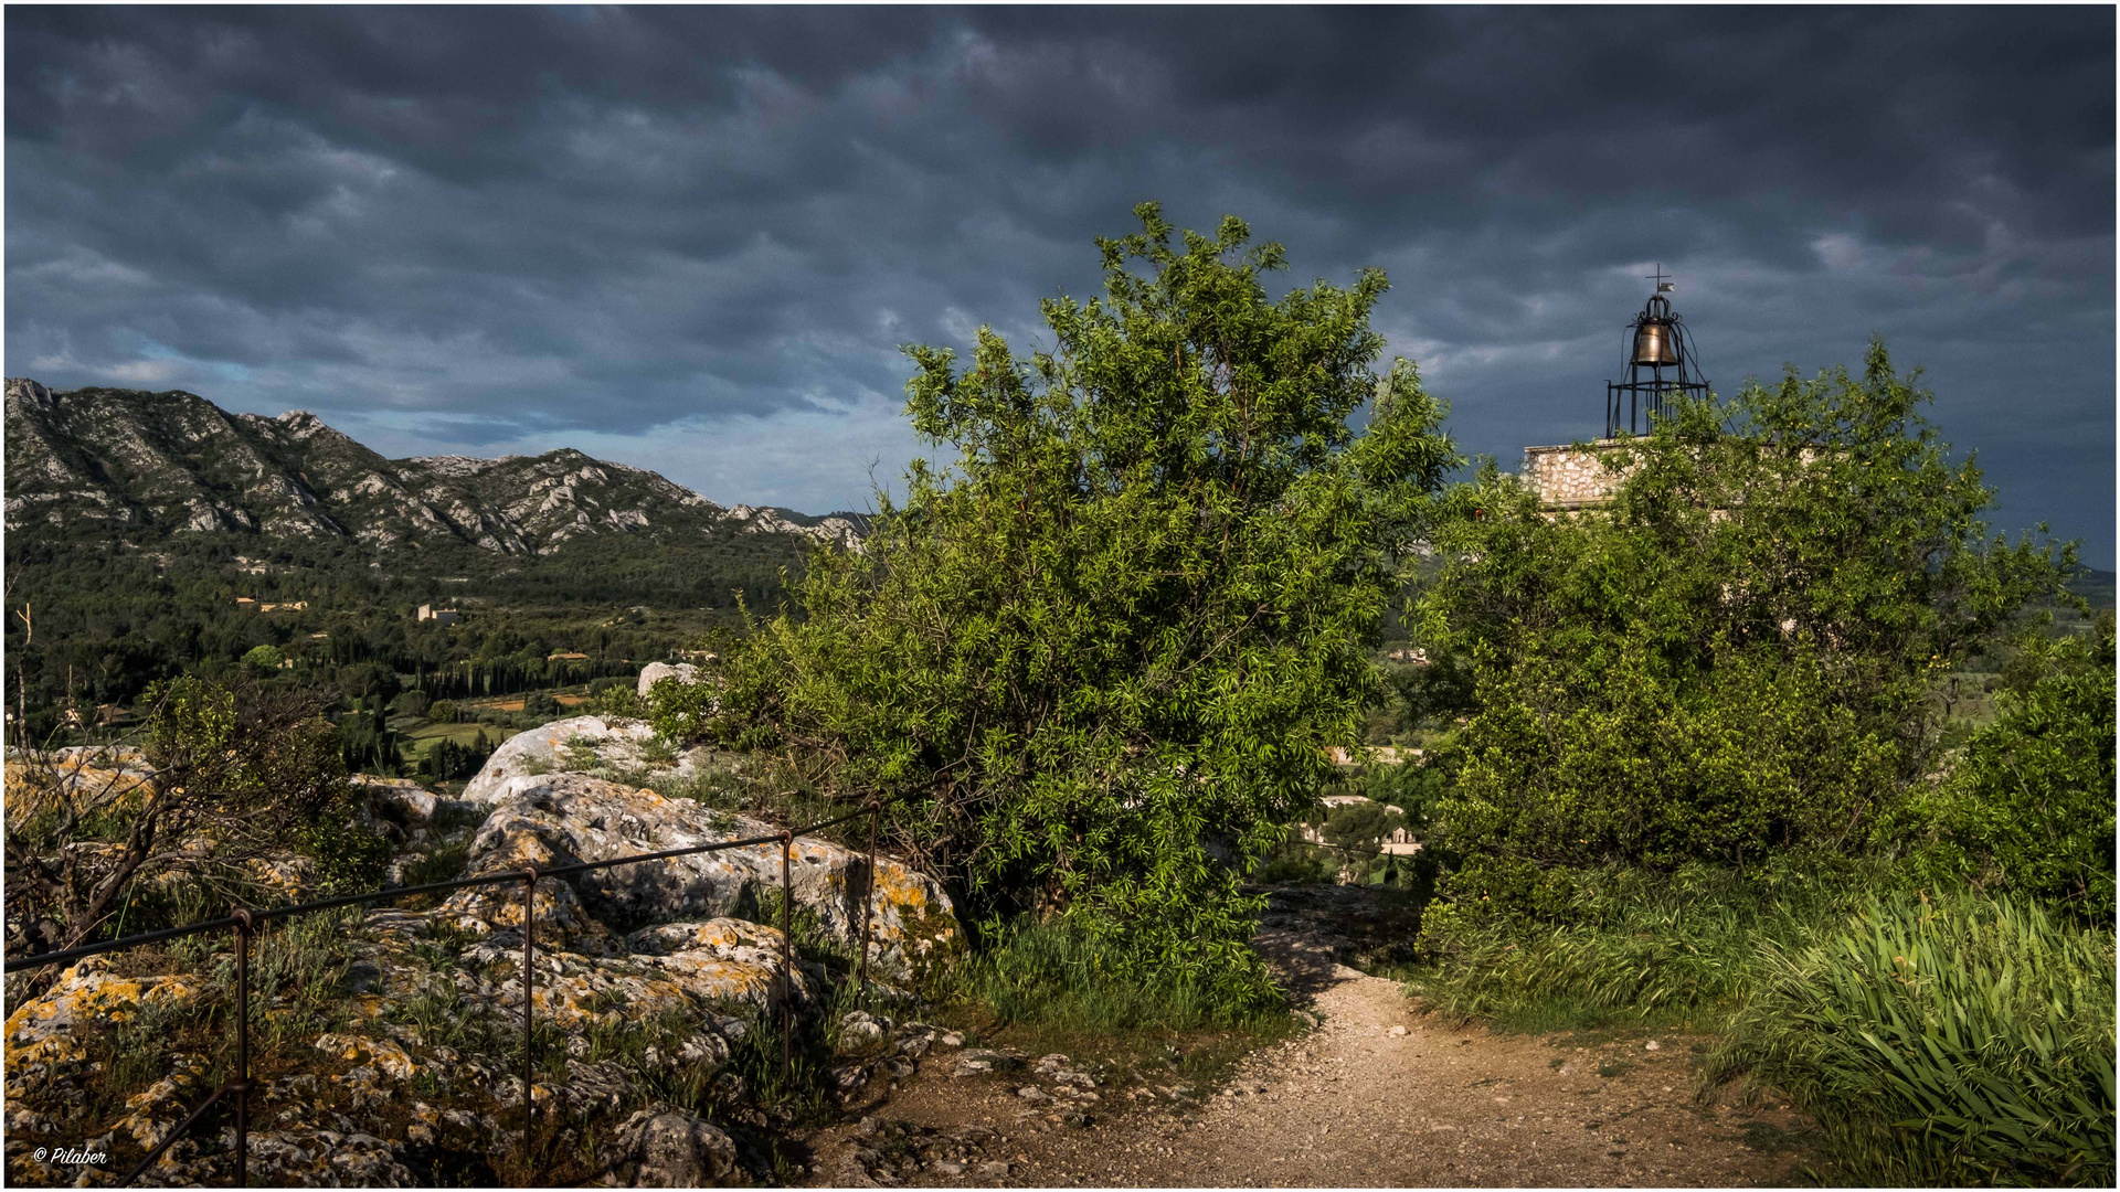
M1259 950L1321 1024L1253 1052L1198 1101L1113 1082L1083 1126L1018 1092L1045 1084L1030 1069L954 1077L931 1063L867 1126L816 1139L814 1171L823 1184L1032 1188L1751 1186L1787 1184L1806 1158L1798 1116L1694 1101L1694 1039L1452 1029L1414 1014L1397 982L1338 963L1342 942L1314 916L1280 921ZM848 1162L893 1130L895 1167ZM960 1137L982 1145L967 1154Z

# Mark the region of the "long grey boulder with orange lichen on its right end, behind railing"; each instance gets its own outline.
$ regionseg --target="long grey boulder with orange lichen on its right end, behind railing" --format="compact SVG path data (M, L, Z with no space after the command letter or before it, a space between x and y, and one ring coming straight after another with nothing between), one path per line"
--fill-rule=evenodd
M585 774L511 778L502 791L471 842L471 872L606 861L778 831L759 819ZM797 838L789 884L797 906L812 910L825 931L856 944L861 895L869 884L865 870L867 857L859 853ZM935 878L888 857L880 857L876 870L869 963L880 978L920 980L962 948L950 895ZM714 918L757 906L780 884L780 846L615 865L579 874L572 884L596 918ZM522 901L519 893L515 901Z

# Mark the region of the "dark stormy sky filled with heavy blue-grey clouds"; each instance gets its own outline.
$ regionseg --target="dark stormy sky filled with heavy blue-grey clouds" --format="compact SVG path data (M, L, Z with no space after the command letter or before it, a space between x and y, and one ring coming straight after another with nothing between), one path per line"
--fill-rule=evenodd
M2114 564L2114 11L6 8L6 373L865 507L899 344L1145 197L1380 265L1471 452L1603 428L1662 263L1732 390L1885 335Z

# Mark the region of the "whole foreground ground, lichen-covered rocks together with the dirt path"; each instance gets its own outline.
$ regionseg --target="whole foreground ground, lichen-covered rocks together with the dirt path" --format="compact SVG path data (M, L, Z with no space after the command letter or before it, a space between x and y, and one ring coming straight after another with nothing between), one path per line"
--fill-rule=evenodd
M774 831L651 789L725 759L655 751L596 717L511 738L441 800L373 783L403 884L549 870ZM668 787L666 787L668 789ZM447 870L447 872L443 872ZM1259 948L1306 1029L1113 1050L920 1022L890 991L848 1010L861 891L871 967L918 986L960 948L941 887L825 840L791 865L797 963L782 967L780 851L740 848L536 884L538 1022L522 1145L519 884L267 933L254 988L250 1179L814 1186L1783 1184L1808 1126L1694 1097L1683 1037L1499 1037L1423 1016L1353 965L1397 959L1403 910L1357 887L1278 889ZM273 876L303 897L299 865ZM835 959L837 957L837 959ZM8 1184L110 1184L229 1071L225 940L91 957L8 982ZM791 1012L808 1109L765 1097ZM1151 1044L1153 1046L1153 1044ZM1253 1048L1249 1054L1247 1048ZM1200 1056L1206 1056L1202 1060ZM799 1099L797 1099L799 1101ZM797 1120L844 1118L829 1128ZM110 1156L55 1164L42 1152ZM233 1177L223 1116L151 1186Z

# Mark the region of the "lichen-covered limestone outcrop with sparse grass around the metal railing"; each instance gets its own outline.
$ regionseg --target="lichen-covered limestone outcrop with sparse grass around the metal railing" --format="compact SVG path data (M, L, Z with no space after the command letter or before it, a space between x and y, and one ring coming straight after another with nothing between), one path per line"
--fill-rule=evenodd
M401 884L517 874L757 838L778 825L657 793L642 734L577 717L509 740L471 800L371 783ZM661 757L676 772L695 759ZM600 776L608 774L608 776ZM632 781L613 781L613 778ZM288 870L284 893L301 889ZM827 1099L914 1073L937 1031L833 1007L867 918L888 1003L962 946L941 887L890 857L797 838L795 965L782 963L778 844L666 857L534 887L526 991L524 882L267 929L252 963L248 1175L259 1184L757 1184L784 1179L789 1094L759 1097L780 1044ZM863 901L867 895L867 914ZM422 901L424 897L424 901ZM108 952L11 976L8 1184L110 1184L231 1071L231 940ZM522 1012L534 1012L536 1130L522 1145ZM142 1177L233 1179L220 1114ZM95 1154L100 1162L53 1156Z

